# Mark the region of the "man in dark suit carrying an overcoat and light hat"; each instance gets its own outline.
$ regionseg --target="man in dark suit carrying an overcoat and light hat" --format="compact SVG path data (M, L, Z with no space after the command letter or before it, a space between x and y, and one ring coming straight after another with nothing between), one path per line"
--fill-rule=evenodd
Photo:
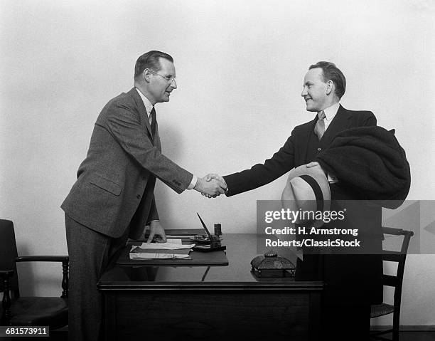
M227 175L223 179L217 174L209 174L208 179L225 179L227 196L247 192L274 181L294 167L315 161L339 132L376 125L372 112L347 110L340 105L345 87L345 76L335 64L321 61L311 65L304 78L301 96L305 100L306 110L316 112L316 117L295 127L284 146L264 164L255 164L251 169ZM334 174L328 174L328 180L331 199L364 199L361 193L346 187ZM381 234L380 224L379 217L370 229ZM322 321L326 338L342 340L340 334L343 333L343 340L367 340L370 304L382 302L380 255L304 255L304 261L299 258L297 261L296 280L326 282Z

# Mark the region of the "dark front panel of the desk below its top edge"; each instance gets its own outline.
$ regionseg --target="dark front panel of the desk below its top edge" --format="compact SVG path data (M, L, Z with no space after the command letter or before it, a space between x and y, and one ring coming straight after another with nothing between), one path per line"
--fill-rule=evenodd
M229 340L232 335L305 341L316 340L308 332L319 329L320 294L308 291L130 291L105 298L112 310L108 340Z

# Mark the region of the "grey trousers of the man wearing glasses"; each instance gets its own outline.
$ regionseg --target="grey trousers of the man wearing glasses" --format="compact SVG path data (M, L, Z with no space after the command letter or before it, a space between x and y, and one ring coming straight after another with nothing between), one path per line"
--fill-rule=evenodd
M125 246L128 231L111 238L88 229L65 214L65 227L70 256L68 290L68 339L97 341L102 336L102 297L97 281L113 263L114 253Z

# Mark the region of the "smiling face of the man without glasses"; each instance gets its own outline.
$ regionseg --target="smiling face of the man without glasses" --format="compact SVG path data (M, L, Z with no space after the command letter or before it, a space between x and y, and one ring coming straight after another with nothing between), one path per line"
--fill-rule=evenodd
M331 93L332 82L325 83L323 80L323 70L312 68L308 70L304 78L304 90L301 96L306 103L307 111L319 112L328 107L328 95Z

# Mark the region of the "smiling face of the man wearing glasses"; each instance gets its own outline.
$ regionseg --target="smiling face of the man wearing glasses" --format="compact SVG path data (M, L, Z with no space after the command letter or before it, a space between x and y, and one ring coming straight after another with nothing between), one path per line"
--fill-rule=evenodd
M152 105L161 102L168 102L172 90L177 88L175 78L175 66L165 58L159 58L160 69L153 70L149 74L147 93Z

